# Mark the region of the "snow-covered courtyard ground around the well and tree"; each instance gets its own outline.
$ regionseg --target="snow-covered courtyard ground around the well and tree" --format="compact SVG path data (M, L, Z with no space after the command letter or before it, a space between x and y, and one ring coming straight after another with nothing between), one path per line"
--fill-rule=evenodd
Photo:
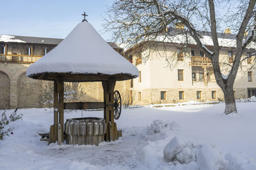
M23 120L12 122L13 134L0 141L0 169L205 169L209 160L224 169L256 169L256 103L237 103L237 115L223 115L224 108L188 103L124 109L116 121L123 137L99 146L47 146L38 133L49 131L52 109L20 109ZM83 111L83 117L102 116L103 111ZM65 113L65 119L75 117L81 111ZM200 146L198 161L165 162L164 147L174 137Z

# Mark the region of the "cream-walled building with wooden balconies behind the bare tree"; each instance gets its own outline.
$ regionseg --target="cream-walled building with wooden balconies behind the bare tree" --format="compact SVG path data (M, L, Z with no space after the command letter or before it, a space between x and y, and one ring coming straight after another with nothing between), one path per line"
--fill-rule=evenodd
M133 46L125 57L134 63L140 77L131 83L133 104L181 103L186 101L223 101L223 92L216 84L211 60L196 48L193 39L188 45L177 39L178 29L170 30L173 41L161 40ZM202 41L211 49L209 32L201 32ZM228 74L234 59L236 36L219 33L221 72ZM150 45L151 43L151 45ZM156 50L157 46L157 50ZM154 47L154 48L153 48ZM255 53L255 43L245 50L242 59ZM234 83L235 98L256 96L255 57L244 60Z

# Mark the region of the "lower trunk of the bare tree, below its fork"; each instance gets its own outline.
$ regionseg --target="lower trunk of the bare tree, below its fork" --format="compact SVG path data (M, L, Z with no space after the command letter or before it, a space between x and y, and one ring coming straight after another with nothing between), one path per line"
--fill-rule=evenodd
M221 89L225 98L225 114L228 115L229 113L237 113L233 86L225 85L225 87Z

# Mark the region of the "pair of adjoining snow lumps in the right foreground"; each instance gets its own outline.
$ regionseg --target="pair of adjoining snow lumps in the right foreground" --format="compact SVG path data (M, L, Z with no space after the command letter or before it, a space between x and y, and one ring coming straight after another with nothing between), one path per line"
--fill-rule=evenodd
M223 154L211 145L194 145L182 138L174 137L164 147L164 160L177 164L196 162L201 169L220 170L226 169L228 161Z

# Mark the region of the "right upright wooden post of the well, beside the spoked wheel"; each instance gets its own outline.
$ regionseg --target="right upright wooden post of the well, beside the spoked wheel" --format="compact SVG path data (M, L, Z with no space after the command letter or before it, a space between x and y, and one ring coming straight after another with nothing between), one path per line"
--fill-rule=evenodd
M106 136L105 141L110 141L113 139L113 124L114 124L114 89L115 89L115 80L102 81L102 87L104 90L104 120L106 120ZM111 122L112 126L109 126ZM112 136L110 136L112 135Z

